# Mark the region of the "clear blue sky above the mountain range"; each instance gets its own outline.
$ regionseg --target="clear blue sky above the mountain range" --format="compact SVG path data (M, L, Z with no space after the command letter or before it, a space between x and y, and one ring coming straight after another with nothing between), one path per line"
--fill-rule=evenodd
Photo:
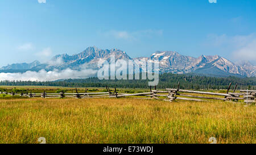
M89 46L131 57L177 51L256 64L256 1L0 1L0 66Z

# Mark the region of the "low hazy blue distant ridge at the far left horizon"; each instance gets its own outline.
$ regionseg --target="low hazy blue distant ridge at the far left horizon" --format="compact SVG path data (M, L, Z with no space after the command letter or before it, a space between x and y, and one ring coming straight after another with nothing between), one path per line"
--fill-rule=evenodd
M17 63L17 64L3 66L2 68L0 68L0 70L26 70L26 69L32 69L38 65L40 65L40 62L36 60L36 61L31 62L30 64Z

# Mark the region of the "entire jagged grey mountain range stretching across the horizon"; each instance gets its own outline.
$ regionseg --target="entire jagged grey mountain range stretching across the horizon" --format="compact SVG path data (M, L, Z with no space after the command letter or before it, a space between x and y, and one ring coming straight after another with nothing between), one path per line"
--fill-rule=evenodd
M28 70L39 72L40 70L81 70L93 69L97 70L97 62L100 60L109 60L110 54L115 54L115 59L134 60L159 60L160 73L201 73L212 76L243 76L255 77L256 66L250 62L242 64L234 64L221 56L204 56L191 57L183 56L173 51L157 51L152 53L150 57L131 58L126 52L119 49L98 49L97 47L88 47L85 51L77 55L69 56L67 54L56 55L47 63L40 64L34 61L30 64L11 64L0 68L0 73L24 73ZM60 77L61 78L61 77Z

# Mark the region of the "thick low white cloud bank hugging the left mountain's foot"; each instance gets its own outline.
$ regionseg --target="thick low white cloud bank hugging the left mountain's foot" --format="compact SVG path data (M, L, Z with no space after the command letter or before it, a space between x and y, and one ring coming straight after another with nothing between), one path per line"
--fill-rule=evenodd
M47 72L46 70L40 70L39 72L27 71L25 73L0 73L0 81L55 81L57 79L68 78L88 78L97 73L97 70L82 69L82 70L53 70Z

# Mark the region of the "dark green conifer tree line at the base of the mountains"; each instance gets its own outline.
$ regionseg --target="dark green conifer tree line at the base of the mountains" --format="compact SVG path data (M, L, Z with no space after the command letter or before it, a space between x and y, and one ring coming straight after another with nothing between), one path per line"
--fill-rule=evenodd
M208 77L197 74L159 75L158 89L175 88L180 82L180 89L227 89L229 83L238 83L237 89L256 89L256 77ZM60 81L0 81L2 86L61 86L61 87L120 87L148 88L148 80L100 80L97 77L86 79L64 79Z

